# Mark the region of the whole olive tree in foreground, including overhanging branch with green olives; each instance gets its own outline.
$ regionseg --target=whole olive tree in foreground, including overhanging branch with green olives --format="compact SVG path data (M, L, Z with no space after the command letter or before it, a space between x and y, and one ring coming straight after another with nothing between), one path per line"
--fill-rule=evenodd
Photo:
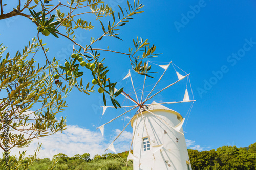
M67 106L64 98L72 88L77 88L86 95L98 91L103 93L105 105L108 97L114 107L120 107L115 98L122 92L122 88L115 91L116 82L110 81L107 75L108 66L103 63L106 57L100 52L124 55L129 58L131 67L138 74L151 77L148 75L151 66L143 59L156 57L157 54L154 54L156 46L150 45L147 39L136 37L131 40L134 46L127 47L127 52L110 49L108 46L102 48L99 45L99 41L108 44L113 38L122 40L119 35L120 28L133 19L134 15L143 12L143 5L139 0L132 3L127 1L127 7L118 5L117 12L101 0L69 0L58 1L57 4L51 0L19 0L16 8L7 12L5 6L0 0L0 20L23 16L31 20L31 26L37 26L35 38L28 42L22 52L17 51L15 55L11 52L5 54L6 47L1 45L0 148L5 155L9 155L13 147L27 147L34 138L65 130L66 119L62 117L57 120L56 114ZM82 19L88 14L94 14L96 21ZM99 22L102 33L96 37L92 36L88 44L77 43L74 33L77 30L94 29L95 22ZM59 37L73 43L73 52L65 63L58 63L55 58L47 55L51 47L43 43L43 40L49 35L54 37L56 43L60 41ZM42 57L38 51L41 51L46 59L42 67L42 63L36 62L37 58ZM6 57L3 57L4 55ZM93 82L83 82L84 74L92 75ZM20 155L23 157L24 153ZM15 162L12 158L6 161L4 158L3 167L8 164L10 167ZM16 162L19 162L18 160Z

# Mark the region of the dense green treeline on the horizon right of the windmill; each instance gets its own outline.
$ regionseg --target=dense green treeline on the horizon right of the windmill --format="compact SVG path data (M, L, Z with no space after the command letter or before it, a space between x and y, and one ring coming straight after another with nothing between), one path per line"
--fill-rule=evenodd
M246 148L220 147L217 150L201 151L188 149L193 170L255 170L256 143Z

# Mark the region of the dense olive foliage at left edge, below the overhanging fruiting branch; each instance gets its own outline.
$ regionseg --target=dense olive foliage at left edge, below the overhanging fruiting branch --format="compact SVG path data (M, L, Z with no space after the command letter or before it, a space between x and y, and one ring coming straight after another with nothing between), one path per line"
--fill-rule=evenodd
M0 45L0 148L9 160L1 166L9 168L19 166L14 162L19 164L26 154L20 153L19 159L15 160L9 155L13 147L27 147L32 139L65 130L66 126L66 120L57 120L55 115L67 106L63 99L70 88L61 88L62 83L58 86L52 83L54 78L51 72L55 71L51 69L58 67L55 59L49 65L47 63L40 67L34 57L28 57L38 51L40 45L36 41L33 39L13 57L9 53L3 57L7 48ZM32 107L35 111L29 110ZM33 163L33 160L31 158L28 164ZM28 168L28 164L24 169Z

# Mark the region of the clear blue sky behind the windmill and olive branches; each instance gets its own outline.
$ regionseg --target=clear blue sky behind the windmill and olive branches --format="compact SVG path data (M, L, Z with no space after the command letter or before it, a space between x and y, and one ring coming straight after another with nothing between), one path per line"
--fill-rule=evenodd
M109 3L114 11L118 11L117 5L126 7L127 4L124 0L105 2ZM121 27L120 37L123 41L108 38L103 40L100 46L103 48L109 46L113 50L128 52L128 47L133 47L132 38L138 35L138 37L148 39L151 44L154 43L157 46L156 52L162 53L158 58L151 59L152 62L159 64L157 62L173 61L182 70L190 73L189 78L194 98L197 101L194 103L185 127L188 148L197 146L200 150L210 150L223 145L247 147L254 143L256 141L254 123L256 119L256 90L254 88L256 85L254 74L256 3L253 1L187 2L181 0L141 1L141 3L145 5L143 8L145 12L136 14L133 20ZM93 16L89 15L89 18L94 20ZM99 26L98 22L93 22L95 27ZM36 33L36 26L24 17L0 20L0 42L9 46L9 52L12 54L20 50L28 40L36 36ZM86 44L91 35L96 38L101 33L101 28L95 28L89 32L78 32L77 42ZM63 62L65 58L68 58L65 51L71 54L68 40L62 38L58 40L53 36L42 38L51 48L49 56L55 56ZM129 59L117 54L101 53L101 55L106 57L105 64L111 69L108 75L112 81L123 86L124 91L133 93L129 80L122 80L128 69L131 69ZM40 61L40 56L37 57ZM156 79L163 72L163 69L154 64L152 69L158 72L154 75ZM156 89L167 86L177 79L173 67L169 69L166 72L167 76L163 77ZM136 89L139 91L141 89L139 82L143 78L133 72L132 76L136 80ZM89 72L84 76L84 81L86 80L92 80ZM154 81L156 80L148 81L147 85L151 85ZM185 86L186 80L183 80L165 93L160 93L161 95L156 96L155 101L182 100ZM189 95L191 96L190 91ZM67 98L69 107L59 115L67 116L70 129L81 128L90 132L92 136L100 135L99 130L95 128L124 111L108 109L102 117L102 108L98 109L98 106L102 105L101 99L102 95L98 93L87 96L74 89ZM119 98L120 103L123 100ZM131 103L125 100L124 105L127 104ZM165 106L185 117L190 104ZM131 117L131 115L132 113L129 113L126 116ZM98 148L104 150L113 136L118 130L122 130L124 123L128 121L127 118L121 118L106 126L104 137L99 138ZM132 129L129 126L125 132L126 136L120 143L128 141L131 132ZM68 143L72 143L72 140ZM120 147L118 151L128 149ZM102 153L102 150L97 150L97 152ZM83 151L89 152L86 148Z

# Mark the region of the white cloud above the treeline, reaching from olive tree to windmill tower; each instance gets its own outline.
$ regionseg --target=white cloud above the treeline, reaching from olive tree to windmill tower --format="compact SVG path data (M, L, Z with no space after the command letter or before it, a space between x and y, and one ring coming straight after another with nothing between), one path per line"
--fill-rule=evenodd
M91 158L93 158L96 154L104 154L105 149L120 132L121 130L119 129L114 130L113 136L111 137L112 140L108 141L101 135L100 131L90 131L78 125L67 125L67 129L63 133L57 132L50 136L34 139L29 147L13 148L11 154L18 156L18 151L27 150L27 156L32 155L39 142L42 143L42 149L38 155L39 158L51 159L53 155L58 153L66 154L69 157L75 154L89 153ZM132 133L124 131L114 142L116 151L123 152L129 150L131 140Z

